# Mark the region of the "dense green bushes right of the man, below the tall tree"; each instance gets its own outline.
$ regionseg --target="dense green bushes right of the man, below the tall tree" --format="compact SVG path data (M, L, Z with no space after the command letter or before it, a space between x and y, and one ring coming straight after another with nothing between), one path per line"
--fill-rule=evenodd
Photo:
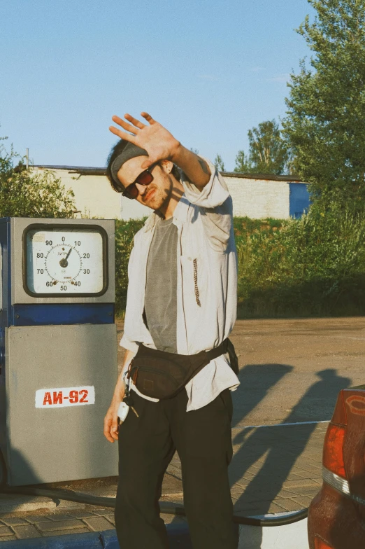
M321 208L237 242L241 316L364 314L365 215Z

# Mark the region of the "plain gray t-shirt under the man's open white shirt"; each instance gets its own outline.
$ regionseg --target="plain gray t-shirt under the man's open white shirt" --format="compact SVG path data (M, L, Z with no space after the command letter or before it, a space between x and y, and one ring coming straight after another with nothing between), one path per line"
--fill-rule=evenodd
M159 351L177 353L176 253L178 228L173 218L157 223L150 245L145 284L145 320Z

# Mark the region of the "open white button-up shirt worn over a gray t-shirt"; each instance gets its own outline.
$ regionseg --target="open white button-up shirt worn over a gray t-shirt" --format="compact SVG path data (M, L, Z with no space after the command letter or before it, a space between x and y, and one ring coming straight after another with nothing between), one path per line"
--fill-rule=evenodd
M178 354L196 354L217 347L228 338L236 321L237 254L232 199L222 176L213 164L206 162L212 174L210 181L200 192L182 174L185 193L173 212L173 223L178 228ZM160 219L157 212L148 217L144 227L134 236L129 259L127 308L120 345L132 352L137 352L141 343L156 348L143 321L143 310L148 252ZM196 299L196 282L199 300ZM164 296L156 296L156 299L164 299ZM238 384L228 356L223 354L213 359L187 383L187 411L205 406L221 391L236 389ZM133 389L148 398L136 387Z

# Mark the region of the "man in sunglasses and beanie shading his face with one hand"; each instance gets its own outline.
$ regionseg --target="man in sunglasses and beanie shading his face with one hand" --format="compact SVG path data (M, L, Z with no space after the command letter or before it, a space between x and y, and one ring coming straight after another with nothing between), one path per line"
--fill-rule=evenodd
M134 237L120 342L126 353L104 421L106 438L119 440L117 536L128 549L169 547L158 500L177 450L194 549L236 549L227 468L232 457L229 389L239 382L224 347L236 320L232 201L210 162L148 113L141 116L148 124L129 114L125 120L113 116L122 130L110 131L121 141L107 167L115 190L154 210ZM196 357L220 356L203 362L170 398L153 398L136 387L137 368L133 409L118 430L123 374L133 372L134 356L141 351L169 359L161 361L162 376L171 357L191 365ZM147 382L145 387L154 386Z

